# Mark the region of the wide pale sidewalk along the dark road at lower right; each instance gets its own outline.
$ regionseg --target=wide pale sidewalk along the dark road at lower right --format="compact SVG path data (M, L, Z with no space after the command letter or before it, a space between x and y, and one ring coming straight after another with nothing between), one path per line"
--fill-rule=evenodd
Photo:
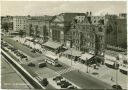
M80 70L81 72L84 72L84 73L87 73L87 66L84 65L84 64L81 64L81 63L78 63L78 62L74 62L72 61L71 63L71 60L66 58L66 57L60 57L59 58L59 61L68 65L68 66L71 66L77 70ZM101 81L104 81L110 85L114 85L116 84L115 83L115 70L113 69L110 69L108 67L106 67L105 65L101 65L99 67L99 69L93 69L92 67L88 67L88 74L101 80ZM120 73L118 71L119 75L118 75L118 84L120 84L122 86L122 88L126 89L127 87L127 84L125 82L125 80L127 79L127 76L126 75L123 75L122 73ZM124 77L125 76L125 77ZM113 77L113 80L111 80L111 77ZM123 80L121 80L123 79Z

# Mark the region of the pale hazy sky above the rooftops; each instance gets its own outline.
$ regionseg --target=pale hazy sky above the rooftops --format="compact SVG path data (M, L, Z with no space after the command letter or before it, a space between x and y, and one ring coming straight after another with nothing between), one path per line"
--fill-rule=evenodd
M1 1L1 15L42 16L91 11L93 15L126 13L125 1Z

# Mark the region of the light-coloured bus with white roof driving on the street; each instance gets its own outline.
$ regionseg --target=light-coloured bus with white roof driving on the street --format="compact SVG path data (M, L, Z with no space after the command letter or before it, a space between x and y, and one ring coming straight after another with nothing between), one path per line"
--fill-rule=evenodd
M45 62L51 64L51 65L54 65L54 66L57 66L58 65L58 58L57 56L55 55L52 55L52 54L45 54L46 56L46 59L45 59Z

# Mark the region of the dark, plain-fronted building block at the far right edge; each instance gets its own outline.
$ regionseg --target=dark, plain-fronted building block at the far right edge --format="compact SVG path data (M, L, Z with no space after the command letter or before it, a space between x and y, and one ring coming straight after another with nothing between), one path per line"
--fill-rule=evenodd
M106 44L110 46L127 47L127 19L126 14L106 15ZM117 48L118 49L118 48Z

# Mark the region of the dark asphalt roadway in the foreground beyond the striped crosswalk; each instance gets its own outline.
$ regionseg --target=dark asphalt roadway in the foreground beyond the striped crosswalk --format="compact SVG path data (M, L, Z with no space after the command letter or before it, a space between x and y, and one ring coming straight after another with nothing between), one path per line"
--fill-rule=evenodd
M77 70L63 74L65 78L84 89L111 89L111 86Z

